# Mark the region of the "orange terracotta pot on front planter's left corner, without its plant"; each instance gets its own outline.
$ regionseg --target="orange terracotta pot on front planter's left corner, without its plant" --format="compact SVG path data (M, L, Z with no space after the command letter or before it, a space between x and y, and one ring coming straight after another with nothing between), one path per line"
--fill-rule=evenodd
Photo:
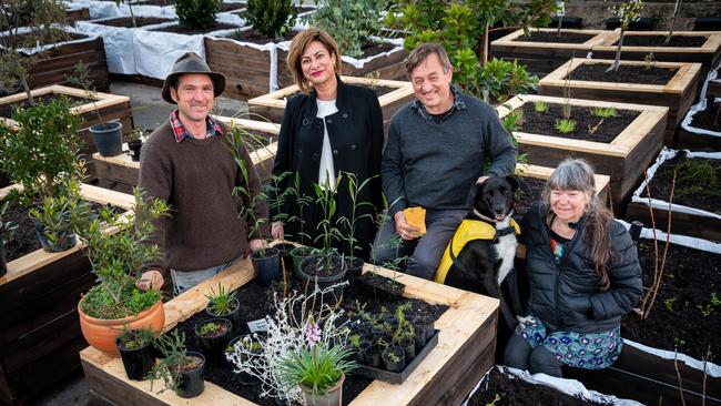
M165 325L165 311L162 301L158 301L150 308L134 316L101 319L87 315L82 311L81 300L78 303L78 314L80 315L80 329L88 344L112 357L120 356L120 352L115 346L115 338L123 334L123 326L128 326L128 329L151 328L156 334L160 334Z

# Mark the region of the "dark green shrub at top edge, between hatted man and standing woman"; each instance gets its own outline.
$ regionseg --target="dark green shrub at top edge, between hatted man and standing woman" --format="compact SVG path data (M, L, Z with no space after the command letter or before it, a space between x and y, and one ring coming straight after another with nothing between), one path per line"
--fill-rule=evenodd
M243 17L254 30L276 39L291 31L297 14L293 0L248 0Z

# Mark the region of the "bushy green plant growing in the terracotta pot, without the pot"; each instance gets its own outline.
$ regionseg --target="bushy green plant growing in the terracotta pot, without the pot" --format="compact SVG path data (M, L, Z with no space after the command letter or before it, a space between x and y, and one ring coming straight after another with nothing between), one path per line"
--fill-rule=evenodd
M87 226L75 232L85 241L85 252L100 284L83 297L82 307L98 318L121 318L138 314L152 306L161 296L156 291L144 292L135 287L143 266L160 256L160 248L150 244L153 222L169 216L164 201L145 201L139 189L134 190L135 207L129 219L121 219L103 207ZM113 232L106 232L109 224Z

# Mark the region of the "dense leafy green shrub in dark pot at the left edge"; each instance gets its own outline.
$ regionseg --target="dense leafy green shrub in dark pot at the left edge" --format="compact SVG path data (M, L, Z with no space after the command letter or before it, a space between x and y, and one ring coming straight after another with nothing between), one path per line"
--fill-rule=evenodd
M29 211L43 250L65 251L75 245L72 229L83 207L78 184L83 173L78 158L80 118L60 98L16 110L13 119L14 125L0 121L0 165L22 189L13 189L8 200Z

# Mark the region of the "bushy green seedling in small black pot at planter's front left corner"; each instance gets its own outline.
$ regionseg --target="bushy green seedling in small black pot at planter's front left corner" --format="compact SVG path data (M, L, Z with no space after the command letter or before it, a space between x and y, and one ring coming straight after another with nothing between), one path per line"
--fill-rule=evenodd
M191 398L203 393L203 368L205 357L201 353L189 352L185 347L185 334L174 331L158 337L158 348L163 355L150 372L151 390L158 379L163 379L164 388L172 389L180 397Z

